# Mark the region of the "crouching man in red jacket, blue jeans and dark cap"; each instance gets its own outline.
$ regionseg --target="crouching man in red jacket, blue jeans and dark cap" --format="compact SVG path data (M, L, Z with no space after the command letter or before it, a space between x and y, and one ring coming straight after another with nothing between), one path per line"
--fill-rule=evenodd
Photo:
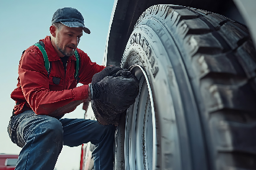
M83 102L106 98L102 91L111 90L106 82L113 80L108 75L121 70L104 69L76 48L83 32L90 33L79 11L58 9L53 14L51 35L40 40L50 63L49 72L39 47L30 46L22 54L17 88L11 94L16 106L8 126L12 142L22 147L16 169L53 169L63 145L75 147L87 142L96 145L94 169L112 169L113 125L60 119ZM80 56L78 77L75 50ZM96 73L106 78L89 84ZM76 87L78 82L83 85ZM112 101L111 96L107 100Z

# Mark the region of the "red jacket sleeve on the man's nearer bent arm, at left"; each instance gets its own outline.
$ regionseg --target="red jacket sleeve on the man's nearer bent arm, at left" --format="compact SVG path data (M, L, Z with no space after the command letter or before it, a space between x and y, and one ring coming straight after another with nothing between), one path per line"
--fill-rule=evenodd
M36 114L58 116L69 113L88 98L88 85L70 90L50 91L43 57L35 46L23 54L18 73L25 100ZM58 111L58 108L65 106L66 109Z

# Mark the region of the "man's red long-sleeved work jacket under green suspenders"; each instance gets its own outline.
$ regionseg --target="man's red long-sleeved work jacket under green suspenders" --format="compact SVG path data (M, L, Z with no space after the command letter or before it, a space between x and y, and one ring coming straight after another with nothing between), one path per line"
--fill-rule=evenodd
M45 69L43 54L37 46L30 46L22 54L18 69L17 88L12 91L11 98L16 101L14 114L32 109L36 114L51 115L53 111L71 101L86 100L88 98L88 84L94 74L104 69L95 62L91 62L88 55L77 49L81 57L79 82L83 85L76 87L74 77L76 57L68 57L65 70L55 48L52 46L50 36L40 40L45 44L45 51L52 67L48 76ZM56 84L57 77L59 82ZM62 114L70 113L75 108L66 109ZM61 114L61 115L62 115ZM56 116L56 115L55 115Z

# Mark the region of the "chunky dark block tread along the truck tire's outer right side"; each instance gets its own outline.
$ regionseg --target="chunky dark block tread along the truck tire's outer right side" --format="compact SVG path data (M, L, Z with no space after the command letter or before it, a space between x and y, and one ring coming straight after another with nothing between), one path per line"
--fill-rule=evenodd
M159 20L186 49L199 82L198 105L205 105L198 108L213 141L213 169L256 169L256 51L247 27L201 9L157 5L134 28L145 17Z

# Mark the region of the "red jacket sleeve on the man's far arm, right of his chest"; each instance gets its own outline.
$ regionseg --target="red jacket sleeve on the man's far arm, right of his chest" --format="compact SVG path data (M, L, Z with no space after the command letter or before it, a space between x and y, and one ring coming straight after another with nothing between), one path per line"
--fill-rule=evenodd
M91 62L91 59L89 59L88 55L78 49L78 52L80 53L81 57L81 66L79 70L79 77L80 77L80 83L87 85L91 83L91 79L93 78L93 75L101 72L105 67L99 66L96 64L96 62Z

